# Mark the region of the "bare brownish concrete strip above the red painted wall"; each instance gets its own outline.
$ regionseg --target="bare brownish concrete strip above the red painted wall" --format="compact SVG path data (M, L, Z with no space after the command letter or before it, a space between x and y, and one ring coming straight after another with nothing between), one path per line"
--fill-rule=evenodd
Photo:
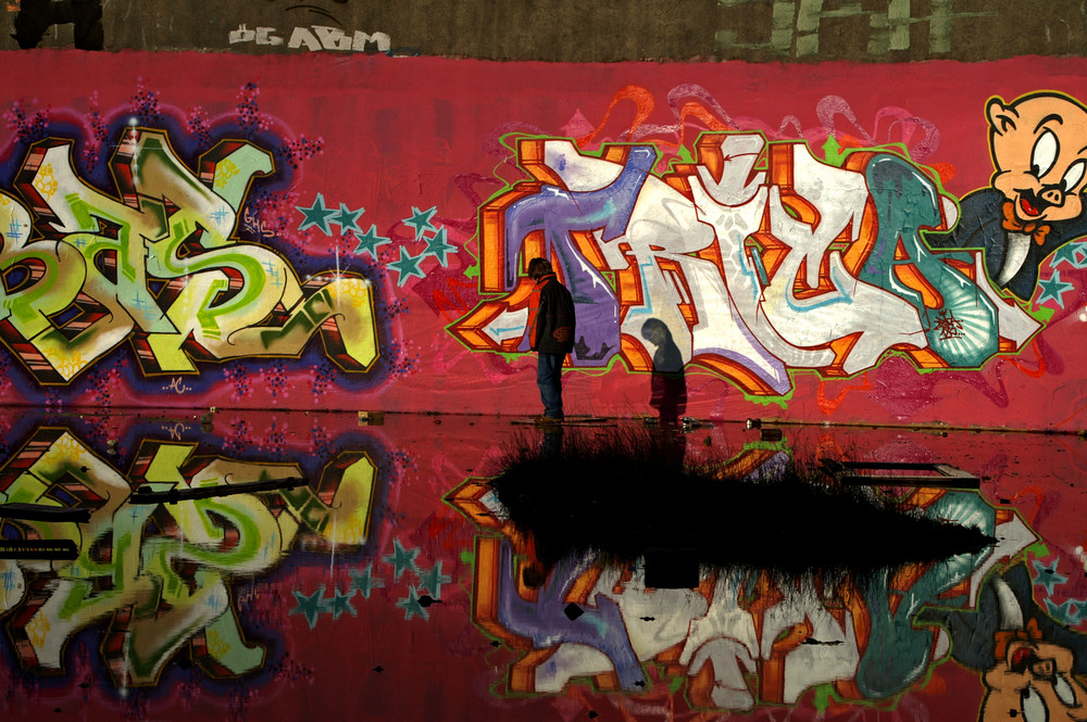
M485 60L924 59L1080 54L1082 3L1054 0L9 0L10 48L391 53ZM11 27L12 30L8 30Z

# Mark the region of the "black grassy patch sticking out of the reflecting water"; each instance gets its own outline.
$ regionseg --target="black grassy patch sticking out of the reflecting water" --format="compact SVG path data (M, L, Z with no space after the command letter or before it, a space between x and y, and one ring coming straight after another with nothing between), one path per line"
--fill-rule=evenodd
M784 454L755 474L729 474L723 460L689 464L683 438L667 432L523 442L490 485L545 569L587 554L645 559L647 586L688 587L700 567L863 574L996 542L873 489L837 486L817 465Z

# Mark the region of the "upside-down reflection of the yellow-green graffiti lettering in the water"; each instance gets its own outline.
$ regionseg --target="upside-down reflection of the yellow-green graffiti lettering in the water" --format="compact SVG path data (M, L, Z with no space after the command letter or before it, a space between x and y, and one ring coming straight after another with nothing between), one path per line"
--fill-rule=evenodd
M120 686L154 684L189 646L212 676L258 669L230 581L282 560L296 540L317 548L366 541L376 468L341 454L318 483L168 505L130 503L134 486L215 486L300 476L296 465L197 456L195 445L145 442L126 479L63 429L42 429L0 469L0 502L82 507L88 523L5 520L5 537L73 540L74 561L0 560L0 611L22 664L59 671L65 644L105 626L102 655ZM303 533L305 530L309 532Z

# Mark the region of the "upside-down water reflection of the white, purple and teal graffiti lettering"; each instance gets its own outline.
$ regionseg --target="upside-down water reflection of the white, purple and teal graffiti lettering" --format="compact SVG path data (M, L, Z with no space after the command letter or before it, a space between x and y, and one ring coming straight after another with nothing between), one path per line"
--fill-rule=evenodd
M764 449L747 449L733 464L772 461ZM919 613L974 607L989 572L1036 539L1012 511L974 492L919 489L904 508L977 528L997 546L870 579L788 583L760 571L705 571L690 590L648 588L641 561L616 567L590 555L534 582L532 541L504 520L488 487L470 480L450 498L491 532L477 540L474 617L520 653L510 692L560 693L584 677L602 689L637 691L655 663L686 680L691 705L727 710L797 704L820 685L844 701L895 697L948 651L949 632L919 624Z

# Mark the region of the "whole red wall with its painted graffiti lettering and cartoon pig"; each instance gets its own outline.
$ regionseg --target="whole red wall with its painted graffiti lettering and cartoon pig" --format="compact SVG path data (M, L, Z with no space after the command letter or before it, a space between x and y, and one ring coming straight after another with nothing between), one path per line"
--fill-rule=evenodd
M1082 426L1077 61L5 62L4 404Z

